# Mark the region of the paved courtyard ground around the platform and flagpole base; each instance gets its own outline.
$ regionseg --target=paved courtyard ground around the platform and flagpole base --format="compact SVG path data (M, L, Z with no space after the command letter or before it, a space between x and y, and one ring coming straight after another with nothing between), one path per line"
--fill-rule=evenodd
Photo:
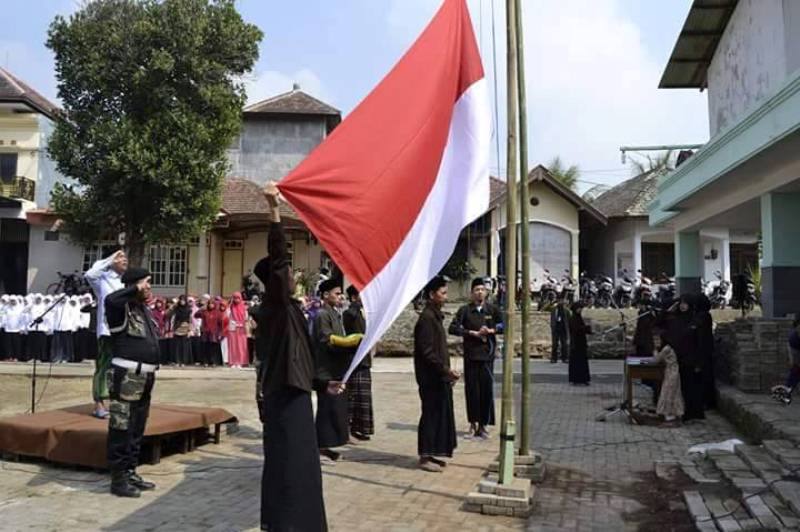
M376 361L378 433L323 467L332 530L692 530L680 486L658 479L654 462L678 460L694 443L736 436L714 414L677 429L633 426L620 416L595 421L618 401L619 362L594 363L590 387L566 384L565 365L536 362L533 443L545 456L548 475L537 487L535 513L528 521L466 513L460 511L463 497L496 454L497 436L487 442L462 437L443 474L419 471L419 403L410 368L408 359ZM0 415L29 408L28 371L0 364ZM38 408L86 402L89 373L88 365L56 368ZM39 390L44 385L40 380ZM142 467L159 487L136 500L110 496L107 477L92 471L0 462L0 530L257 529L262 459L252 397L251 371L162 372L155 401L225 407L239 417L238 431L220 445ZM463 421L460 385L456 398Z

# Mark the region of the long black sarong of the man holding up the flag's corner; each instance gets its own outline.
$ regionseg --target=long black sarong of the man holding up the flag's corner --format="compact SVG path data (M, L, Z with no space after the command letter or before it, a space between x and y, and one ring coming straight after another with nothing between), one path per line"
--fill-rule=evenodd
M326 531L311 394L295 388L264 398L261 528Z

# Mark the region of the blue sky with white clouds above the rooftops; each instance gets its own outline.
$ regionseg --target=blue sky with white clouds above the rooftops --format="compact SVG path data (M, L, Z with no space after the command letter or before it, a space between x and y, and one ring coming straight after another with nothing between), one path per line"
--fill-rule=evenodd
M424 28L441 0L239 0L265 37L248 79L253 101L304 90L345 114L386 74ZM487 75L492 0L468 0ZM658 81L691 0L523 0L531 165L561 155L583 170L581 189L630 175L621 145L704 142L705 93L659 90ZM79 0L4 3L0 64L56 99L47 27ZM505 127L504 0L494 0ZM501 142L501 147L504 142ZM503 173L505 155L495 173Z

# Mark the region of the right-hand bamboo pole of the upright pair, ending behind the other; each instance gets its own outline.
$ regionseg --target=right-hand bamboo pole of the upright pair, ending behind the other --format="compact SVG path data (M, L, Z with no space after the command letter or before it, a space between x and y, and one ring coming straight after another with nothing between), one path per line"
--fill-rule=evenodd
M525 90L525 41L522 32L522 3L516 2L516 30L517 30L517 81L519 99L519 174L520 174L520 247L522 248L522 399L520 404L519 424L519 454L527 456L530 449L530 418L531 418L531 381L530 381L530 339L529 323L531 313L531 298L529 287L531 284L531 245L530 223L528 207L530 205L530 191L528 190L528 108Z

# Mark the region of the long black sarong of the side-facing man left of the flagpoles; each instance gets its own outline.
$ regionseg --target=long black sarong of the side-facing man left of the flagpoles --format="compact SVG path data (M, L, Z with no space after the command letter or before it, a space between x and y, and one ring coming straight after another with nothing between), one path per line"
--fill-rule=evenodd
M422 415L417 430L419 456L453 456L456 448L456 420L453 414L453 388L449 383L429 383L419 387Z

